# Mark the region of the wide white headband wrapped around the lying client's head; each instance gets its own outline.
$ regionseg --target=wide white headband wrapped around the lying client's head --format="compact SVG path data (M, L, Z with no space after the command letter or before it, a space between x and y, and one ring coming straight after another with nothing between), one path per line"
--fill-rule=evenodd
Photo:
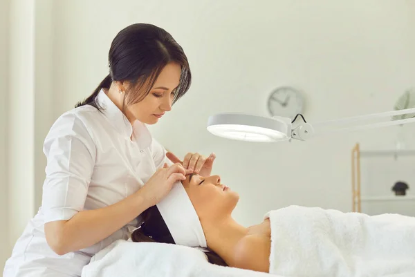
M176 245L207 247L201 222L181 182L156 206Z

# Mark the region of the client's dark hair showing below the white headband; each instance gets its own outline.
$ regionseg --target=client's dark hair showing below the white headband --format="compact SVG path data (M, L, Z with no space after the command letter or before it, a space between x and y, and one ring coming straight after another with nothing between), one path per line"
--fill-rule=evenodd
M133 240L133 242L163 242L176 244L156 206L149 207L149 209L142 213L142 221L140 228L136 229L131 234L131 240ZM225 267L228 266L226 262L211 249L208 249L208 252L205 252L205 254L208 256L210 263Z

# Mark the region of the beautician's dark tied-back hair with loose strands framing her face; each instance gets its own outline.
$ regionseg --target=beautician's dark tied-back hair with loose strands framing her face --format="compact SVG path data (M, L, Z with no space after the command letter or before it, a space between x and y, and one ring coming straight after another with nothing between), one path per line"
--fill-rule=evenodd
M192 75L183 48L164 29L148 23L136 23L124 28L113 39L109 49L109 75L92 95L75 107L91 105L101 110L95 102L101 88L109 88L113 81L129 81L131 88L124 92L123 108L142 101L150 92L161 70L174 62L181 66L180 84L174 91L173 103L190 88Z

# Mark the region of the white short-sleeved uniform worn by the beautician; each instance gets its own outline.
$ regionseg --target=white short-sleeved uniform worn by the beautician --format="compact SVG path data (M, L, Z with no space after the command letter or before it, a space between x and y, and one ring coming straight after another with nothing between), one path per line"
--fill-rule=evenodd
M103 90L97 100L102 113L89 105L74 108L50 128L44 142L42 207L17 240L3 277L80 276L95 253L115 240L127 240L129 229L137 227L136 218L101 242L63 256L46 242L46 222L69 220L79 211L119 202L168 162L165 149L145 124L136 121L131 126Z

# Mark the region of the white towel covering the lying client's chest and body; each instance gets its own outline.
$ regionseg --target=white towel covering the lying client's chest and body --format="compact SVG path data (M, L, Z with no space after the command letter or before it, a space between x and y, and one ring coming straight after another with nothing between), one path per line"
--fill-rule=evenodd
M306 277L414 277L415 218L290 206L266 214L270 273Z

